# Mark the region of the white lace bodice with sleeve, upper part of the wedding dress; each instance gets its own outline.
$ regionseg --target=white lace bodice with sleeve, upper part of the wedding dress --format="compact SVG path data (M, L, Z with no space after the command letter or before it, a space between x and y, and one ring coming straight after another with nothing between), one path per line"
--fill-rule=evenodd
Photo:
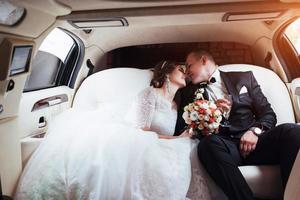
M173 135L176 125L176 104L169 102L155 91L147 87L138 94L127 119L138 128L150 128L161 135Z

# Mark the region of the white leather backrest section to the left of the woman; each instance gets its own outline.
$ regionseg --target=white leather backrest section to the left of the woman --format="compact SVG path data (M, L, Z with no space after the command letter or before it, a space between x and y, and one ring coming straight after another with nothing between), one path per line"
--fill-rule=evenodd
M149 86L152 71L135 68L113 68L97 72L83 81L73 102L73 108L97 109L103 104L130 104Z

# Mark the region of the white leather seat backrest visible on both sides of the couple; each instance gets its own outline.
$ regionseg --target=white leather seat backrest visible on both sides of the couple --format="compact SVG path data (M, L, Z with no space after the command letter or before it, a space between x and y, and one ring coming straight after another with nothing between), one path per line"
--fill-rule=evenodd
M278 124L295 122L289 92L281 79L263 67L231 64L219 67L222 71L252 71L258 84L277 114ZM114 68L95 73L80 86L73 107L97 109L102 105L129 106L132 99L145 87L152 77L150 70Z

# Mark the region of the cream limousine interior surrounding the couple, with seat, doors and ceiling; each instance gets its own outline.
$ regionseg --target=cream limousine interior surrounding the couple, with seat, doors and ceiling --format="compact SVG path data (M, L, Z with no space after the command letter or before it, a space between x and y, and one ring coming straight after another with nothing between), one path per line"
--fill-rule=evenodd
M277 124L299 123L299 16L297 0L0 0L0 191L14 195L56 116L128 107L156 63L196 47L252 71ZM258 199L296 200L299 167L285 190L278 166L239 169Z

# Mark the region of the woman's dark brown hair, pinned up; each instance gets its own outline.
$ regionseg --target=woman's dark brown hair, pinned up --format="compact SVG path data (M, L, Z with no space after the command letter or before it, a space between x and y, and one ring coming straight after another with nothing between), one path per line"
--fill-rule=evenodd
M180 65L178 62L165 60L160 61L153 70L153 78L150 86L161 88L167 79L167 75L172 73L176 66Z

